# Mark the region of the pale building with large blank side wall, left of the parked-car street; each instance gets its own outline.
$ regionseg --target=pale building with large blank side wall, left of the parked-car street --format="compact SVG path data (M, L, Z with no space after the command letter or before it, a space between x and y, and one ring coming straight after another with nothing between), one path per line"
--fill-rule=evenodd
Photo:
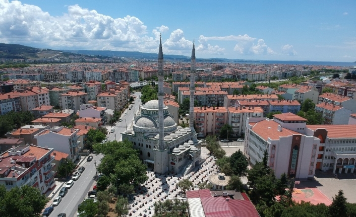
M43 130L35 135L37 145L40 147L48 147L54 151L60 151L69 155L69 158L74 162L80 159L78 147L79 129L71 129L63 126L54 126L50 129Z

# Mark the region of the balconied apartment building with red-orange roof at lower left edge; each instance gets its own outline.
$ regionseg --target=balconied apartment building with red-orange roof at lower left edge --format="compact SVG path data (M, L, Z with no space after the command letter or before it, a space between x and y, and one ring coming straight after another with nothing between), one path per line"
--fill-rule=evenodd
M0 156L0 185L7 190L24 185L38 188L42 194L55 187L53 149L18 146Z

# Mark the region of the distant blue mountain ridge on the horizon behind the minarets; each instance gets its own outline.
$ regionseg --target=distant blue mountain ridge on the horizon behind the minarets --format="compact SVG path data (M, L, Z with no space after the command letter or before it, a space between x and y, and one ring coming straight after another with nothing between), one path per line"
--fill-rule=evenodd
M108 57L125 57L136 59L157 59L157 53L143 53L138 51L112 51L112 50L62 50L69 53L85 54L85 55L100 55ZM180 61L189 60L190 57L183 55L164 55L165 59L177 59Z

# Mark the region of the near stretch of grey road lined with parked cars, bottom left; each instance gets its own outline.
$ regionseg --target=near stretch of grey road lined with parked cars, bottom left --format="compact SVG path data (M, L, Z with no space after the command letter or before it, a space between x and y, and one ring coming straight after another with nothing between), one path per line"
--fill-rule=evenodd
M68 190L66 196L62 198L62 202L58 206L54 207L53 212L49 215L50 217L55 217L61 212L65 212L67 216L77 215L78 204L84 200L94 183L94 160L98 163L102 158L102 155L93 155L93 157L94 159L91 162L84 161L84 164L82 165L85 167L84 172L79 179L74 182L73 186Z

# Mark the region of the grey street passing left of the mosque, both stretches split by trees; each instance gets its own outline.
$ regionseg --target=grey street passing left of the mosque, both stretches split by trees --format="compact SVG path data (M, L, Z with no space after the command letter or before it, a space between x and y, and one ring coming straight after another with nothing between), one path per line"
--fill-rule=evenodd
M122 135L121 132L124 132L126 129L126 124L129 127L131 123L134 120L134 111L137 112L139 109L139 96L141 96L140 92L136 92L134 94L137 96L135 99L135 103L133 104L133 108L127 109L125 112L128 114L125 115L125 112L122 115L123 121L118 122L113 128L115 131L113 133L107 134L107 139L109 141L112 141L115 139L115 134L116 134L116 140L122 140ZM111 129L111 126L107 126L108 131ZM96 161L96 166L100 163L100 159L103 157L102 155L95 155L91 154L93 156L93 160L90 162L87 162L86 159L81 163L79 166L85 167L84 172L81 174L79 179L74 182L74 185L68 190L68 193L66 196L62 198L62 202L58 204L58 206L54 206L54 210L52 213L49 215L50 217L55 217L61 212L65 212L67 216L77 216L77 210L78 210L78 205L86 198L88 195L88 192L92 190L92 186L94 183L94 176L95 176L95 161ZM87 158L87 157L86 157ZM59 192L54 195L53 198L55 198L58 195Z

